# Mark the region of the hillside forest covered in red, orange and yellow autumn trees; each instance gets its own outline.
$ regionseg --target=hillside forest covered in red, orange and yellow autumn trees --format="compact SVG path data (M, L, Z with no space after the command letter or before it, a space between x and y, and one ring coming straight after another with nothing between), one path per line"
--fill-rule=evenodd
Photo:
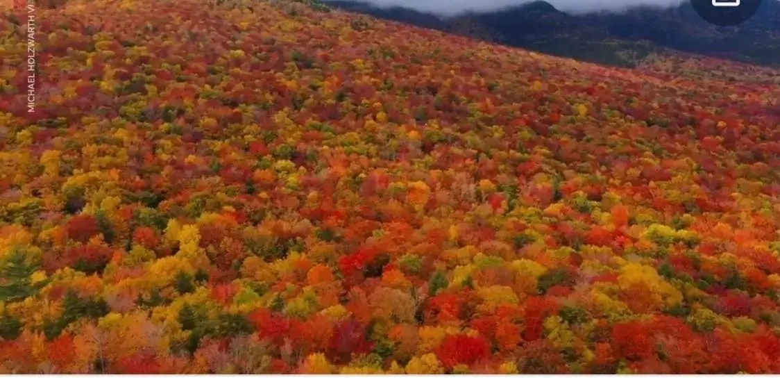
M780 71L318 2L0 34L0 373L780 373Z

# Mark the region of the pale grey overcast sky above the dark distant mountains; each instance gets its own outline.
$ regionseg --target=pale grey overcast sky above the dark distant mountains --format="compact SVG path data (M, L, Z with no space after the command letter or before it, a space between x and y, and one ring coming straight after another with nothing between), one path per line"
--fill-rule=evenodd
M463 11L491 11L518 5L532 0L364 0L374 5L400 5L424 12L445 15ZM589 12L601 10L620 11L636 5L668 6L684 0L547 0L555 8L566 12Z

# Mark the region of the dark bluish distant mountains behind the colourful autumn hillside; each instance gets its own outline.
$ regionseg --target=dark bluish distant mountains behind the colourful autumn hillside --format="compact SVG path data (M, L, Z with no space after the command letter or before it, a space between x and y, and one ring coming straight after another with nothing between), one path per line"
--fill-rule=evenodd
M328 4L385 20L616 66L633 66L665 48L780 66L780 2L776 0L765 0L753 19L738 27L705 22L689 2L676 8L637 7L574 15L538 1L449 17L365 2Z

